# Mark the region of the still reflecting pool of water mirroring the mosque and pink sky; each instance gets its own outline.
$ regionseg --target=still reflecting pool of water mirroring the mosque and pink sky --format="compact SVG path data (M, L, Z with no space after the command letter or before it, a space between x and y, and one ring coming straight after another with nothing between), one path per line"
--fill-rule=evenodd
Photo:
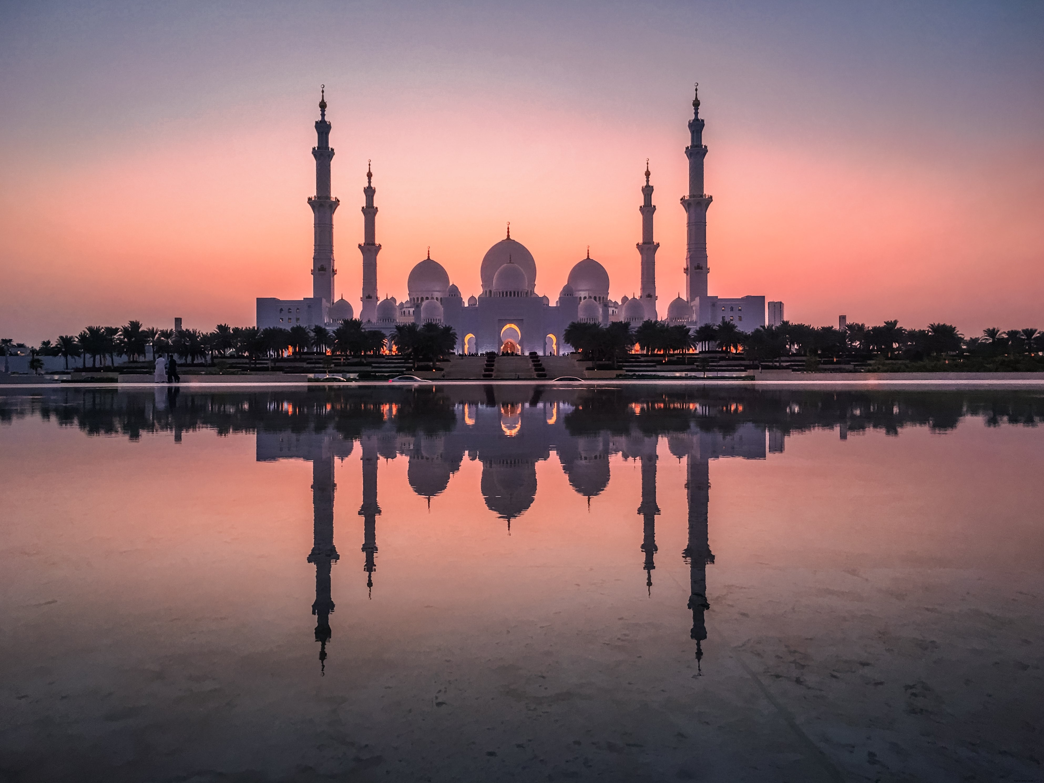
M1042 417L0 393L0 777L1044 780Z

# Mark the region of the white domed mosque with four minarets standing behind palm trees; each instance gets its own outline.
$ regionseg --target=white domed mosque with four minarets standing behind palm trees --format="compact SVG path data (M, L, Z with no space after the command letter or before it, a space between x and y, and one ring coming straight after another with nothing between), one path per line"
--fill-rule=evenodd
M358 317L367 329L392 334L400 324L440 324L453 327L457 334L458 353L529 353L556 355L568 353L571 347L563 335L569 324L583 322L607 326L612 322L627 322L637 327L642 322L665 321L671 325L696 328L704 324L732 323L750 332L765 325L765 298L740 296L727 299L708 294L707 210L711 196L704 192L703 143L704 120L699 117L699 95L693 101L693 118L689 121L690 144L685 148L689 162L689 193L682 197L686 221L685 295L679 295L661 317L657 308L656 253L660 244L654 238L652 185L648 165L643 200L642 237L637 244L641 293L634 299L610 299L610 278L606 267L591 258L580 259L569 271L565 286L552 304L537 292L537 261L524 244L511 236L511 224L504 239L485 253L479 266L477 295L467 302L460 289L450 281L446 269L428 257L419 262L406 280L406 296L381 300L377 293L377 193L373 170L366 170L365 197L362 207L363 241L362 295ZM312 255L312 295L300 300L259 298L257 325L289 328L292 326L335 327L346 318L355 317L351 303L341 294L334 299L337 270L333 253L333 213L340 201L331 195L330 146L332 125L326 118L326 92L319 100L319 119L315 122L315 195L308 199L314 216L315 242ZM773 322L782 318L782 303L769 302Z

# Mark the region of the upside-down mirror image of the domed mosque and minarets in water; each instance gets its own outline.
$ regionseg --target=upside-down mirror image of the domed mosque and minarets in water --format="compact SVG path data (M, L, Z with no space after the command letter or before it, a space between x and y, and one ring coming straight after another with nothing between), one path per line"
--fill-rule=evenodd
M572 489L588 503L609 485L610 457L619 454L637 459L641 466L641 499L638 514L642 517L643 569L646 589L651 594L652 571L656 569L657 465L660 436L632 430L627 433L608 431L572 434L565 419L572 406L561 400L541 401L539 396L523 401L498 401L490 392L480 403L461 403L457 407L457 423L443 432L402 432L394 421L394 405L386 405L383 426L364 428L358 436L361 447L363 517L363 570L367 589L373 588L376 570L376 520L381 509L377 500L379 458L408 460L406 475L413 492L426 498L429 507L449 485L459 470L464 457L482 466L480 488L487 507L506 522L521 517L537 496L537 462L557 454L563 472ZM461 426L462 425L462 426ZM675 430L677 428L672 428ZM671 431L666 437L673 456L686 460L686 496L688 504L688 542L682 552L689 564L692 611L691 638L696 642L696 661L703 658L702 642L707 639L704 620L710 608L707 600L707 566L714 563L709 546L708 504L710 501L709 464L718 457L765 457L766 429L763 425L744 423L728 433L704 431L690 425L684 431ZM312 462L312 502L314 509L314 542L308 563L315 566L316 618L315 640L319 642L319 660L326 661L327 642L331 639L330 614L334 611L331 597L331 571L339 560L333 540L334 459L352 453L353 441L334 430L306 432L258 431L258 460L298 458ZM325 663L324 663L325 668Z

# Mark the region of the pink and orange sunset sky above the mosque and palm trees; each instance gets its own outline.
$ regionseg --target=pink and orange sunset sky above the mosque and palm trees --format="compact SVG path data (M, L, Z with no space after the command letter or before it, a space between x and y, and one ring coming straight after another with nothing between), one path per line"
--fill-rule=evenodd
M790 321L1044 329L1044 4L23 3L0 0L0 336L255 323L310 295L327 88L337 294L425 256L467 298L512 236L638 289L650 160L659 309L683 288L698 80L710 292Z

